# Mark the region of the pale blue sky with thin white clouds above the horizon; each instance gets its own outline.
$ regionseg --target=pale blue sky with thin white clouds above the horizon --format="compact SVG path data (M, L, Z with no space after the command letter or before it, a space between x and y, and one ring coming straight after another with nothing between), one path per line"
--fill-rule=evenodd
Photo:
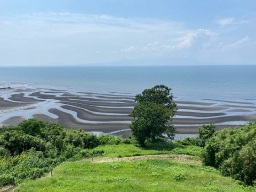
M0 66L256 64L256 0L0 0Z

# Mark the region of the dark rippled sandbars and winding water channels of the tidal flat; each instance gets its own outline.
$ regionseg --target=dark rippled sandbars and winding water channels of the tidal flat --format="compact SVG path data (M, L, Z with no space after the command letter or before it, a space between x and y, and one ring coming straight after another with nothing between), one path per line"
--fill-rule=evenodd
M128 114L136 105L134 94L40 88L22 83L12 86L11 90L0 91L0 125L17 125L37 118L92 133L131 133L129 124L134 119ZM177 97L174 101L178 111L172 122L179 134L196 134L198 127L206 123L215 123L222 129L256 119L256 100L183 101Z

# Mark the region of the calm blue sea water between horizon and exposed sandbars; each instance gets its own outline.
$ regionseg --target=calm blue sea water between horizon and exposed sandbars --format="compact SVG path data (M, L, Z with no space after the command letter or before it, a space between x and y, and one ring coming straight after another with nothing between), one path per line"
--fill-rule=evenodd
M181 100L256 99L256 65L150 67L1 67L0 82L92 92L128 92L165 84Z

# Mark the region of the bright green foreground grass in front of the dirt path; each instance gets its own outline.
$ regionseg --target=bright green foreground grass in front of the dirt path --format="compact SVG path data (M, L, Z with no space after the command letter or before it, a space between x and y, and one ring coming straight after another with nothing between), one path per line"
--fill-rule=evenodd
M52 177L27 181L17 192L241 192L249 191L211 167L171 160L65 162Z

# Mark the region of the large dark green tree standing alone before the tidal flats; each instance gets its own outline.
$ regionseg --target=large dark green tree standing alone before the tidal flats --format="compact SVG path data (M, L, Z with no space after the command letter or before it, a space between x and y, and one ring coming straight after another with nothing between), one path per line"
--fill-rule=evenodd
M166 134L174 139L176 128L171 124L171 117L175 115L176 103L173 102L171 89L165 85L156 85L135 96L139 104L133 109L130 117L137 118L130 128L139 144L145 145L146 139L163 138Z

